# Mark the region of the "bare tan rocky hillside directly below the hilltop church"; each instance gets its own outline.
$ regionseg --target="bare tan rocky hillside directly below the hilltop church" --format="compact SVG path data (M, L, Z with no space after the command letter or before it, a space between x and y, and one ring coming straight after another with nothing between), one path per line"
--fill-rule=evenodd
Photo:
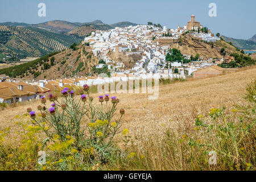
M229 55L232 52L237 52L236 47L231 46L225 41L217 41L215 43L206 43L200 38L195 38L192 35L181 36L177 40L168 40L168 39L156 39L154 42L159 42L160 45L170 44L170 48L177 48L181 51L183 55L192 55L196 56L197 53L204 58L221 58L224 55L221 53L221 49L224 48L226 55ZM213 46L212 46L213 45Z

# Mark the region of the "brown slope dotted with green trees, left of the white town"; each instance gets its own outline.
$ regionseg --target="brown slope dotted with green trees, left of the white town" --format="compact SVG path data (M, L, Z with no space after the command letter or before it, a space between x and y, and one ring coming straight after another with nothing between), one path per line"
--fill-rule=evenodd
M77 46L75 51L67 49L51 53L34 61L0 69L0 75L32 80L56 79L63 77L88 75L98 58L94 57L90 47Z

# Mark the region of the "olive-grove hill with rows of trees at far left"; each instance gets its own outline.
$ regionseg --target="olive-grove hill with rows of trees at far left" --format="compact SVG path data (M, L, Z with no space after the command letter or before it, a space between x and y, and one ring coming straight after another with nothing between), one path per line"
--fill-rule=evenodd
M19 58L42 57L50 52L67 49L81 39L56 34L35 27L0 26L0 53Z

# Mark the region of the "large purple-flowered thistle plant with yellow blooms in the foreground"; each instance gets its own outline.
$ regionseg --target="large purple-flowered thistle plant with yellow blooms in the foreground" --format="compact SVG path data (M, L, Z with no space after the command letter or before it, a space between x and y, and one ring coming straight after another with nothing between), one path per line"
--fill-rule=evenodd
M36 117L35 111L30 108L27 110L30 111L32 123L46 135L43 148L58 148L59 152L76 150L85 156L90 150L93 151L90 154L96 154L93 158L107 162L119 152L113 141L125 113L121 109L117 116L119 100L112 97L110 102L109 95L105 95L105 98L100 96L100 105L97 105L90 96L88 85L79 90L80 96L75 97L75 92L68 88L63 89L61 94L61 99L49 95L51 104L42 97L43 106L38 106L40 117ZM92 159L92 155L89 156Z

